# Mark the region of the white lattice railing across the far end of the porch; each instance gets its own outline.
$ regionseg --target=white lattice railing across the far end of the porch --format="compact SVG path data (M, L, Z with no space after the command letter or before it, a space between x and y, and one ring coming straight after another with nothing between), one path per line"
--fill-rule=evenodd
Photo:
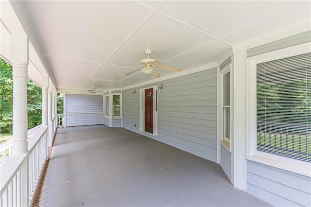
M57 127L104 123L104 113L57 114Z

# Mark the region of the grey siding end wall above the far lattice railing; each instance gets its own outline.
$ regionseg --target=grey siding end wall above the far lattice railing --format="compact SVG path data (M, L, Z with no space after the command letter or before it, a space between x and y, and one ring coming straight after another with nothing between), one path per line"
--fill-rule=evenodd
M103 96L66 94L66 113L103 113Z

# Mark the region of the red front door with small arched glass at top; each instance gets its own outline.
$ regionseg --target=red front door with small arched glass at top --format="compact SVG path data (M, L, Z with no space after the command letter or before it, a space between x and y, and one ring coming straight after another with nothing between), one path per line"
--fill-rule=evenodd
M154 89L145 89L145 131L153 133Z

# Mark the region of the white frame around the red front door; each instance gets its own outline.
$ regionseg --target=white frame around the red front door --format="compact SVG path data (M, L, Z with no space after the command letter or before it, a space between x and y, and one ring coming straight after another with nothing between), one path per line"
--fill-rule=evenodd
M153 88L154 102L153 102L153 134L145 132L145 89ZM144 87L139 89L139 131L148 135L157 137L158 133L158 88L157 86Z

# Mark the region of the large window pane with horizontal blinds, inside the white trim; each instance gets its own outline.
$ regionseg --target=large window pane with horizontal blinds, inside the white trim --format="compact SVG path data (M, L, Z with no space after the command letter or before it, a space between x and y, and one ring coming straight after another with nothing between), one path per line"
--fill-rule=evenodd
M257 150L311 162L311 53L257 64Z

